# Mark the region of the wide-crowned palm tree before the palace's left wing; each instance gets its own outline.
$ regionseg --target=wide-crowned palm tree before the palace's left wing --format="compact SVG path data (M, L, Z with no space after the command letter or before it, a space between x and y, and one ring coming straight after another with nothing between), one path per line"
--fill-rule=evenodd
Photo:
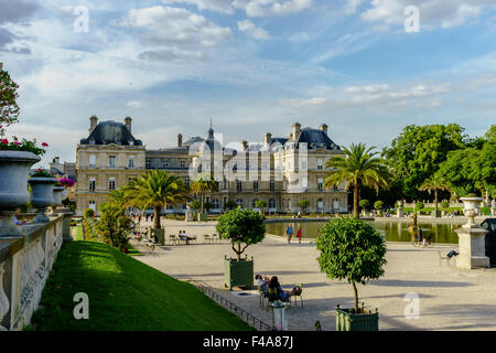
M153 207L153 227L160 228L160 211L188 199L188 190L180 176L163 170L148 170L125 188L128 205L142 210Z

